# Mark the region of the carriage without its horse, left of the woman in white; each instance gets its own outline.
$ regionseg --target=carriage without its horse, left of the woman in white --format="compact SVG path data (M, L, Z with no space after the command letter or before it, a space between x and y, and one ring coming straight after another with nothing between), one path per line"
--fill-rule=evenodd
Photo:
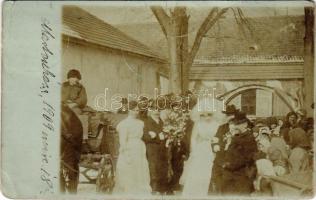
M111 193L119 148L116 125L126 115L111 112L85 114L88 116L88 137L83 143L79 166L87 181L79 183L96 184L97 192Z

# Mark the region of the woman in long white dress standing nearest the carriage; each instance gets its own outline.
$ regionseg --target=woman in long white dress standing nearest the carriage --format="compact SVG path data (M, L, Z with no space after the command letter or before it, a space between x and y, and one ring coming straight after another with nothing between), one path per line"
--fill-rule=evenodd
M117 125L120 150L116 167L115 194L150 195L149 167L142 141L143 121L137 119L136 102L129 103L128 117Z

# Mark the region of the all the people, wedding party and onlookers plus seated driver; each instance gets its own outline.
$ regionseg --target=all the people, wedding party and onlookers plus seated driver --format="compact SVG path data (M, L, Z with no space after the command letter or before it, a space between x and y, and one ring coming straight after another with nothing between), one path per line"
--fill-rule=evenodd
M72 71L68 78L79 75ZM71 108L86 103L83 87L76 84L63 85L63 102ZM271 177L312 184L314 120L305 110L289 112L284 119L250 120L228 105L219 120L208 105L168 102L162 108L157 100L123 99L118 113L127 117L116 127L115 194L275 196L284 194L284 188ZM182 116L175 115L178 124L172 127L180 127L172 131L176 134L170 134L170 127L166 131L173 113Z

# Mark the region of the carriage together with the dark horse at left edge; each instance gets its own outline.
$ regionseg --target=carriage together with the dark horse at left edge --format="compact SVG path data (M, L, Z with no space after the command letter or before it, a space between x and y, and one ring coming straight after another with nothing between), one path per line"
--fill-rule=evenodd
M125 115L111 112L84 111L78 116L79 119L85 119L80 120L83 128L81 137L78 136L78 139L74 140L76 137L72 136L70 138L72 141L69 141L64 138L65 134L62 133L63 141L66 141L64 144L62 143L62 149L64 149L62 153L65 153L66 156L68 154L70 160L63 159L62 156L61 171L68 171L68 176L63 172L61 176L63 176L65 188L68 188L69 192L76 191L77 188L74 187L77 187L78 184L95 184L97 192L112 192L119 148L118 134L115 127L125 117ZM68 120L71 121L71 119ZM72 121L75 123L69 126L69 129L73 130L76 129L76 126L80 126L78 120L76 121L73 118ZM69 133L71 130L64 132ZM75 131L73 131L73 134L76 134ZM72 143L77 143L77 147L69 149L68 147L71 147ZM78 143L81 145L78 145ZM71 157L78 157L78 159ZM73 173L76 175L71 176Z

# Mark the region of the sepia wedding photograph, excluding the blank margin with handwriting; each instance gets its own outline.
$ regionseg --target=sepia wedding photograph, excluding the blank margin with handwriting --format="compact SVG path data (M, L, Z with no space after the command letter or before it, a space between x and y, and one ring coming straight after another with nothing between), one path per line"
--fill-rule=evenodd
M311 198L314 8L62 7L60 191Z

